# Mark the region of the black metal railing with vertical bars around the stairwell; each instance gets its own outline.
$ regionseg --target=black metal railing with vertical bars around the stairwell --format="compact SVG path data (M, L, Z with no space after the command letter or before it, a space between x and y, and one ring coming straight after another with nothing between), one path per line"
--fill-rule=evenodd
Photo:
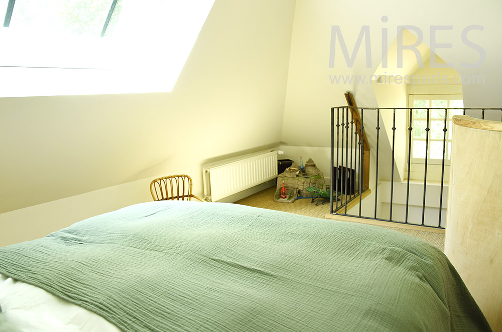
M410 215L410 180L411 180L411 163L412 163L412 137L413 130L416 128L413 127L413 112L414 110L424 110L426 111L426 127L425 127L425 157L423 158L424 164L424 173L423 173L423 181L416 182L414 181L414 186L423 186L423 190L421 191L421 216L420 218L414 218L415 220L420 220L420 222L411 222L409 220ZM426 107L417 107L417 108L356 108L351 106L340 106L340 107L332 107L331 108L331 200L330 200L330 213L338 214L338 215L346 215L353 216L359 218L366 219L375 219L381 221L388 222L398 222L398 223L406 223L406 224L415 224L420 226L428 226L428 227L436 227L436 228L444 228L444 215L442 215L443 209L443 195L445 188L445 164L447 162L447 142L448 139L448 121L449 121L449 112L450 110L455 110L457 113L462 113L463 115L469 115L471 117L485 119L488 117L492 120L502 121L502 109L500 108L426 108ZM382 114L381 111L392 112L392 133L387 133L386 136L389 140L389 148L391 160L382 160L381 158L381 129L382 129ZM429 155L429 145L431 143L430 131L431 131L431 112L444 112L444 120L443 120L443 134L442 134L442 154L441 154L441 171L440 171L440 182L439 182L439 195L437 197L437 201L433 202L433 206L437 205L438 211L437 213L437 222L431 221L429 217L426 218L426 194L428 185L428 165L431 163L431 156ZM397 112L407 112L407 121L405 123L397 123L396 122L396 113ZM366 118L366 120L365 120ZM364 134L364 123L367 124L367 133ZM436 122L437 119L435 120ZM374 125L374 127L373 127ZM389 123L387 123L389 125ZM406 126L408 128L404 128L408 130L407 133L407 150L406 151L395 151L395 143L396 143L396 129L399 126ZM371 127L370 127L371 126ZM373 130L374 128L374 130ZM402 127L403 128L403 127ZM369 138L366 138L369 137ZM369 142L366 142L365 140ZM441 138L434 138L436 141L440 141ZM369 167L369 147L374 146L374 157L375 163L372 168ZM401 179L399 184L403 184L403 180L406 183L406 203L405 203L405 212L404 218L398 218L396 220L395 216L393 216L393 210L395 208L395 198L394 198L394 190L395 190L395 167L396 167L396 152L398 153L407 153L406 160L406 179ZM373 153L372 153L373 154ZM389 202L389 211L388 218L387 215L383 217L383 213L378 211L379 207L379 171L384 167L389 167L390 170L390 193L386 193L390 195ZM374 202L363 200L363 193L369 189L369 176L374 179ZM338 193L335 196L335 193ZM358 202L357 202L358 201ZM414 200L415 202L417 200ZM358 213L349 214L348 210L350 210L349 203L359 203ZM431 202L429 202L431 203ZM366 213L364 215L362 213L363 204L366 211L372 210L371 213ZM372 209L368 209L367 205L373 204ZM414 208L417 207L417 204L414 205ZM429 208L428 208L429 209ZM417 209L415 209L417 211ZM387 211L386 211L387 213ZM429 213L430 215L430 213ZM416 213L415 213L415 217ZM399 220L404 219L404 220Z

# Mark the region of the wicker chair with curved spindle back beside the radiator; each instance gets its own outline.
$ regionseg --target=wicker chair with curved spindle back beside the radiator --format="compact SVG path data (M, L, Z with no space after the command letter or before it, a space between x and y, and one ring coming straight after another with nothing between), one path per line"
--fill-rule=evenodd
M203 202L192 195L192 178L188 175L170 175L155 179L150 183L150 193L154 201L190 201L193 197Z

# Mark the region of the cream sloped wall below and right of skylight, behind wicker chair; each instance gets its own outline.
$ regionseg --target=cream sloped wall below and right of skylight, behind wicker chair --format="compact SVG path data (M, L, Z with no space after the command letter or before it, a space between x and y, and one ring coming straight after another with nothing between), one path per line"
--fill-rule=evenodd
M294 12L216 0L170 93L0 99L0 245L148 201L159 175L202 196L202 164L277 146Z

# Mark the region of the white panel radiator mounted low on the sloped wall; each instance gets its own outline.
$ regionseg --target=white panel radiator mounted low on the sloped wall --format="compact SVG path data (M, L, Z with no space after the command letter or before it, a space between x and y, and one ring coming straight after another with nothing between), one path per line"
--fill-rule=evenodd
M204 199L216 202L277 177L277 150L203 165Z

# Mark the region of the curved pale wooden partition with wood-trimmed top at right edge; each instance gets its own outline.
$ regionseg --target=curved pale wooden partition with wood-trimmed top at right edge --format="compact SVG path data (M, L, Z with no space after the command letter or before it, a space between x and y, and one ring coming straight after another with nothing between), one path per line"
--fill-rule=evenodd
M445 254L502 330L502 122L453 117Z

